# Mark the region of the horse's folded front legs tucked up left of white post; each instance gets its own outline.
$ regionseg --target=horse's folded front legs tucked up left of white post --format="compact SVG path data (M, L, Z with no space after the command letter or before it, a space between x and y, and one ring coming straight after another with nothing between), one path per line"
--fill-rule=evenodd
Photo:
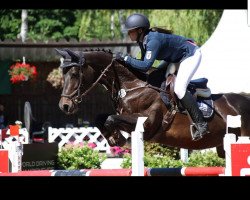
M130 138L130 133L135 129L138 117L142 117L142 115L110 115L104 124L104 132L102 133L109 145L124 146L127 139ZM122 131L129 135L124 135Z

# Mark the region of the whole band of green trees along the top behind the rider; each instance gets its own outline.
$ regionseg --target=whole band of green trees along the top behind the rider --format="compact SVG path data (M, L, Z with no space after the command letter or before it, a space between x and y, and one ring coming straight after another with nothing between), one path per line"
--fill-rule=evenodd
M122 40L125 19L132 13L148 16L151 27L172 29L202 45L212 34L222 10L28 10L28 38L34 41L75 38L77 40ZM21 9L0 10L0 39L17 38Z

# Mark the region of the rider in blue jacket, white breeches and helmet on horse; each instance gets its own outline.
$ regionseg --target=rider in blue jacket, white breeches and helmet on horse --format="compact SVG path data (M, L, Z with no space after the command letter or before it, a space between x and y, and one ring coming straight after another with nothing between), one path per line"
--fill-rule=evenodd
M201 51L190 38L172 34L170 30L151 28L148 18L142 14L132 14L125 22L125 28L132 41L137 41L141 49L141 60L116 54L116 59L141 71L148 71L154 61L180 63L174 92L192 118L196 132L193 140L199 140L209 133L207 122L187 86L201 62Z

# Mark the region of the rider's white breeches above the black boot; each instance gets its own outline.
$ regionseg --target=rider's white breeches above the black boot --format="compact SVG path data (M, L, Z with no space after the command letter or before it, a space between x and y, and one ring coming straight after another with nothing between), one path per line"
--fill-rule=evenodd
M174 86L174 92L179 99L184 97L187 86L200 65L201 57L201 50L197 49L193 56L180 63Z

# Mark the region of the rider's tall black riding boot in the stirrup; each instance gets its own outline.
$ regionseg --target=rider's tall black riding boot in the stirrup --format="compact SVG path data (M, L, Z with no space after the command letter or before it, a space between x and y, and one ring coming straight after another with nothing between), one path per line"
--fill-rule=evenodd
M193 140L199 140L203 135L209 133L207 122L204 121L202 112L198 108L193 96L186 91L185 96L180 100L181 104L187 109L190 117L194 122L196 131L193 133ZM191 131L192 134L192 131Z

